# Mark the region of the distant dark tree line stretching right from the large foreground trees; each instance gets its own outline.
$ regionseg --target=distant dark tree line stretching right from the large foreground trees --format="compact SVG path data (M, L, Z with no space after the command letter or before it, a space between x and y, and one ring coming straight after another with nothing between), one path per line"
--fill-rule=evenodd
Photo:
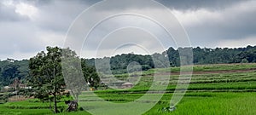
M127 66L133 61L139 63L142 66L142 70L146 71L148 69L155 68L155 62L152 60L152 57L168 57L168 63L170 66L180 66L179 50L186 49L193 51L193 63L195 65L256 62L256 46L247 46L246 48L234 49L209 49L200 47L173 49L171 47L161 54L155 53L153 55L134 55L131 53L115 55L113 57L86 59L86 61L88 65L95 66L95 61L108 59L110 60L110 69L114 74L127 72Z

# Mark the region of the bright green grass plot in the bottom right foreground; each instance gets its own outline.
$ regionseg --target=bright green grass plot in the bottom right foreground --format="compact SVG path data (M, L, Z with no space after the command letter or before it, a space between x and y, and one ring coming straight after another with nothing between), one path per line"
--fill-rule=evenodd
M201 93L198 93L201 94ZM161 103L145 114L173 115L255 115L256 93L205 93L205 95L188 95L177 105L173 112L165 112L160 108L168 106Z

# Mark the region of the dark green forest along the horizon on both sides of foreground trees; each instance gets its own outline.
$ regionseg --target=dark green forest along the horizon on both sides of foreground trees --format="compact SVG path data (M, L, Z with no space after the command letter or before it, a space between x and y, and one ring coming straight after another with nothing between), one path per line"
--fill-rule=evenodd
M154 55L134 55L122 54L113 57L105 57L110 61L111 70L113 73L125 73L126 67L133 61L136 61L142 66L143 70L154 68L154 56L167 56L170 61L170 66L180 66L180 57L178 50L192 49L192 48L179 48L167 49L161 54L155 53ZM216 48L208 49L200 47L193 48L194 64L221 64L221 63L253 63L256 62L256 46L247 46L246 48ZM95 60L102 59L83 59L84 63L88 66L95 66ZM1 60L0 61L0 87L9 85L15 78L25 82L29 76L29 60Z

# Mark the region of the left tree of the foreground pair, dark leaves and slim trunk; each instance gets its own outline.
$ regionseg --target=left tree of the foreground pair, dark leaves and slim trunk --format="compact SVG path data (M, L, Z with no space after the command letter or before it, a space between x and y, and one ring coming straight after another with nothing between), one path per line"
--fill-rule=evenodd
M64 78L61 70L61 50L58 47L47 47L47 52L38 53L29 62L32 88L37 90L38 97L44 98L53 95L54 112L57 109L57 96L65 89Z

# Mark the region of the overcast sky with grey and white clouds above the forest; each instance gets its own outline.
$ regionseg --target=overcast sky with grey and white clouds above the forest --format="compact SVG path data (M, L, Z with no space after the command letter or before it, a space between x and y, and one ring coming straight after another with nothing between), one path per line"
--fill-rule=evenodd
M88 9L99 2L96 0L1 0L0 60L7 58L28 59L44 50L46 46L62 47L68 28L72 26L73 21L84 9ZM256 45L256 1L254 0L157 0L157 2L166 6L175 15L188 33L193 47L234 48ZM119 4L115 4L115 6L119 6ZM114 7L109 9L103 7L94 10L94 14L108 14L124 9L152 13L156 10L157 12L165 10L133 4L126 8ZM125 20L125 17L122 18L124 23L129 22ZM88 20L96 19L88 17ZM112 23L105 25L113 26ZM149 26L148 28L151 27L157 28L157 26ZM99 35L99 32L94 35ZM99 48L96 47L98 42L95 36L88 39L89 43L84 44L86 45L84 46L86 48L85 57L94 57L95 49ZM117 40L117 37L122 37L122 40ZM129 45L129 40L133 43L140 43L140 45L136 46L132 43ZM174 44L173 41L168 43L164 39L161 40L165 43L165 49ZM159 46L154 45L156 42L154 36L149 35L148 32L143 32L142 29L135 31L134 28L124 28L113 32L107 40L101 42L105 44L99 50L105 54L100 56L129 52L147 54L146 50L161 52ZM127 44L120 45L124 43ZM143 45L151 47L143 49Z

